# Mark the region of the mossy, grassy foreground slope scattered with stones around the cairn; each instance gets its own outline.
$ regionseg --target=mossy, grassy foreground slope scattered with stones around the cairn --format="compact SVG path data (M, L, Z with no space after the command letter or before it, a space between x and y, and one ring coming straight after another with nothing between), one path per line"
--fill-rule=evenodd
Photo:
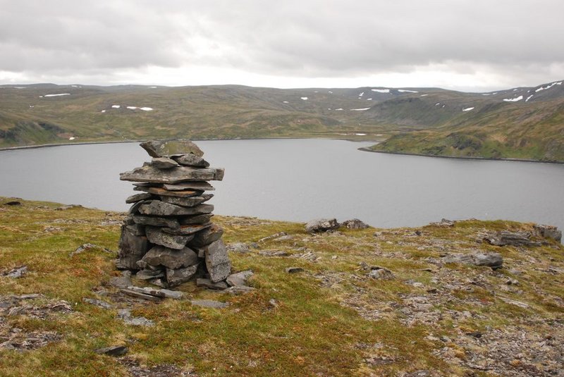
M9 200L0 198L0 344L23 347L0 347L2 376L544 376L562 366L562 246L477 241L532 224L308 235L300 223L215 216L226 244L257 242L245 254L230 252L235 271L255 272L256 290L232 296L185 283L185 299L152 303L109 285L119 276L113 261L123 214L3 205ZM280 232L288 235L259 242ZM87 242L99 247L70 256ZM289 256L259 254L265 250ZM500 253L504 268L441 263L445 254L474 251ZM3 276L24 265L22 277ZM290 266L304 271L288 274ZM393 278L370 278L369 266ZM11 295L27 294L40 296L9 304ZM195 307L190 299L229 306ZM117 315L125 307L155 326L126 325ZM109 345L128 354L94 353Z

